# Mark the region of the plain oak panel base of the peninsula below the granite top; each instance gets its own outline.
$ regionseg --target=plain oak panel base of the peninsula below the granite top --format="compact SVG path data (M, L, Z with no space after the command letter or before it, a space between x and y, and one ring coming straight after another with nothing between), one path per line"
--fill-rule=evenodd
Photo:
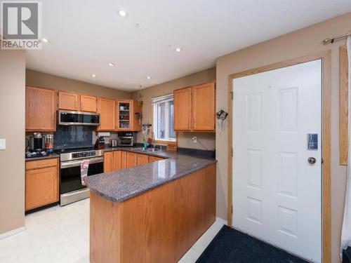
M91 191L90 262L177 262L216 220L216 164L114 202Z

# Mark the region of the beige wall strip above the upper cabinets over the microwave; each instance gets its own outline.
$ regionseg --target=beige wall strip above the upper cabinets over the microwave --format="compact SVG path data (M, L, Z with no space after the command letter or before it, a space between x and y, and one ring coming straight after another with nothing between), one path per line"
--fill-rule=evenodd
M39 86L44 88L53 88L56 90L68 90L87 95L95 95L100 97L110 97L113 99L129 99L131 93L114 88L107 88L95 84L76 81L74 79L66 79L62 76L55 76L42 72L34 72L27 69L25 71L25 83L30 86Z

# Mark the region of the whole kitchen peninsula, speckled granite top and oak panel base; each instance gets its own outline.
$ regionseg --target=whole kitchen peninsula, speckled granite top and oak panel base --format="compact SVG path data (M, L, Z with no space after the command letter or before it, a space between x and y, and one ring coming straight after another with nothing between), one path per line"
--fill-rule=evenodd
M216 219L215 160L146 154L166 159L86 178L92 263L177 262Z

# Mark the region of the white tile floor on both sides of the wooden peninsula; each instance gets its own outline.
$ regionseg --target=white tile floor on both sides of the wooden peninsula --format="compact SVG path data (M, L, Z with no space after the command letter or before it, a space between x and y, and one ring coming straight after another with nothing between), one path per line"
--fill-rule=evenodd
M89 262L89 199L27 215L25 225L0 240L0 263ZM179 262L195 262L222 226L215 222Z

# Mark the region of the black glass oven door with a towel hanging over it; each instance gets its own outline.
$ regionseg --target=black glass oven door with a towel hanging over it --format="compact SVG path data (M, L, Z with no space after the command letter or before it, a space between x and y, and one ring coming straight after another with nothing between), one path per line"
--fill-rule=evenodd
M103 173L103 160L103 157L89 159L88 176ZM85 188L85 186L81 184L81 162L82 161L67 161L61 163L60 194Z

